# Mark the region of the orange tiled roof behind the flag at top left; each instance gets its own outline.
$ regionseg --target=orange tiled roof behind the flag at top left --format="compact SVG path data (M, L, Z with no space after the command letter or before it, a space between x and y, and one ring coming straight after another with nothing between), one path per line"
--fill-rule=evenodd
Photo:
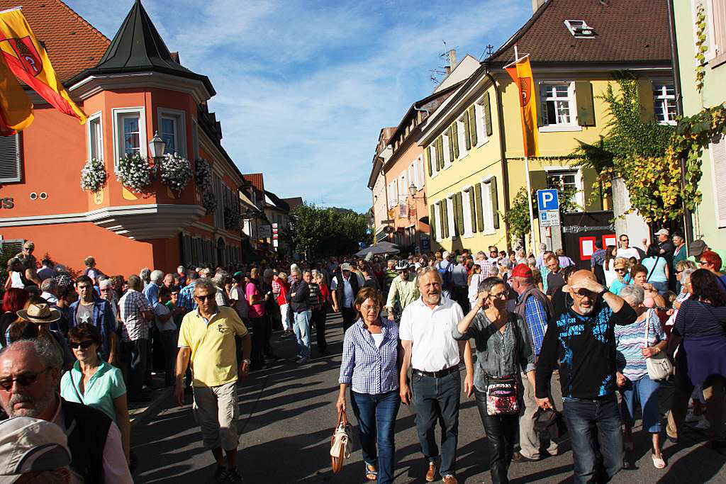
M110 44L106 36L61 0L0 0L0 10L19 4L62 83L96 65Z

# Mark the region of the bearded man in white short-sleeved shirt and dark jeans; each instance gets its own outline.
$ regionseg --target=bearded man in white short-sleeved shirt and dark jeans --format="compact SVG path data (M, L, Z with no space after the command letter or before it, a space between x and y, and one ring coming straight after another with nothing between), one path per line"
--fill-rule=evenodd
M452 337L464 317L460 305L441 296L441 274L425 267L419 274L421 298L404 309L399 336L404 348L400 374L401 401L416 407L416 428L421 450L428 462L426 480L436 479L439 447L434 427L441 418L441 476L445 484L457 484L454 477L459 436L459 403L461 375L459 364L466 366L464 390L471 395L474 385L473 359L469 342ZM412 388L408 385L408 369L412 368Z

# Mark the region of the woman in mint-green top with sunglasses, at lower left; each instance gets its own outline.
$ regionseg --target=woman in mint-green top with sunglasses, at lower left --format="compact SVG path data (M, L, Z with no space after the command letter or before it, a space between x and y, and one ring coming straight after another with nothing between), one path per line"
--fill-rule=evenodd
M103 411L121 430L121 443L129 462L129 407L121 370L98 356L101 332L89 323L68 330L70 348L77 361L60 380L60 396Z

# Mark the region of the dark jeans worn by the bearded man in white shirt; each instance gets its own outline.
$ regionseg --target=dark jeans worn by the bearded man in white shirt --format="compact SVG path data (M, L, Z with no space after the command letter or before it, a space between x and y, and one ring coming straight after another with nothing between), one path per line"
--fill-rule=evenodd
M459 400L461 375L449 373L444 377L423 377L413 374L413 403L416 406L416 430L421 451L428 462L439 457L439 447L433 429L440 420L441 428L441 467L442 476L454 475L456 451L459 440Z

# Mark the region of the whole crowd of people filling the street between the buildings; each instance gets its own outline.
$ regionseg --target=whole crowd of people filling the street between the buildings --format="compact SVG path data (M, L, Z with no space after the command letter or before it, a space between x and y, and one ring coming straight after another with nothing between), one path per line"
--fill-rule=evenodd
M349 388L367 480L393 482L396 415L413 404L426 480L457 483L462 385L476 399L494 483L508 482L512 462L558 454L565 427L575 482L608 480L633 466L637 406L663 469L664 418L669 440L688 422L724 446L726 276L705 242L687 253L680 234L657 237L644 250L626 234L618 247L597 241L589 268L561 249L492 246L129 276L104 274L92 256L71 274L38 263L26 242L7 264L0 401L6 418L70 431L59 444L73 456L59 466L70 475L131 482L128 406L148 401L163 375L180 405L193 393L216 482L240 483L237 385L280 359L276 331L295 338L296 364L330 355L335 312L344 331L336 407L348 408ZM653 377L664 355L674 370ZM674 387L667 417L661 385ZM44 425L15 427L33 424Z

